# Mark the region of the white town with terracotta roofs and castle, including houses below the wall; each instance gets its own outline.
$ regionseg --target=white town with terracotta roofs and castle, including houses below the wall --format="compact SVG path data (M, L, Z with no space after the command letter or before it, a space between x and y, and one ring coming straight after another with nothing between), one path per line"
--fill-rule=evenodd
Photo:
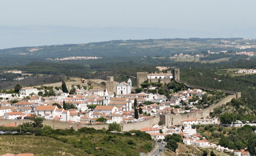
M227 93L219 91L209 92L209 90L188 86L186 88L184 83L179 82L179 68L174 68L172 72L167 71L167 73L139 72L137 73L137 88L132 87L131 79L127 82L115 82L113 77L107 77L107 80L105 82L102 80L101 83L98 83L101 80L93 82L93 80L85 79L81 79L80 82L70 82L71 85L69 83L66 89L70 92L72 90L72 94L65 93L65 82L62 83L62 90L60 89L61 83L56 83L40 87L22 87L18 93L0 93L2 120L16 120L16 122L1 126L19 127L21 125L17 123L17 120L24 121L37 116L56 122L83 125L136 123L160 116L178 117L195 114L207 109L210 105L219 103L228 96ZM161 94L159 92L161 86L170 82L180 84L182 87L177 92L172 90L173 92L168 96ZM144 90L147 93L143 92ZM204 104L205 98L210 96L215 96L215 101L211 104ZM198 108L199 104L203 104L201 108ZM165 124L163 122L166 121L160 119L158 123L138 126L136 129L150 134L152 139L163 144L166 136L178 134L185 145L234 152L233 149L210 143L205 136L197 133L196 128L192 127L200 124L219 124L217 117L212 117L209 113L199 118L188 117L172 121L171 124L168 119L169 123Z

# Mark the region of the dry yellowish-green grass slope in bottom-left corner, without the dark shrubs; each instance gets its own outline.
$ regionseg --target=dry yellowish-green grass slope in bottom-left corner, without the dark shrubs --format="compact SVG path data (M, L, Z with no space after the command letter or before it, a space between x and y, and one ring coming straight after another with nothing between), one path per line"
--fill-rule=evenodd
M86 155L84 150L71 144L46 136L0 136L0 155L6 153L34 153L36 156L75 156Z

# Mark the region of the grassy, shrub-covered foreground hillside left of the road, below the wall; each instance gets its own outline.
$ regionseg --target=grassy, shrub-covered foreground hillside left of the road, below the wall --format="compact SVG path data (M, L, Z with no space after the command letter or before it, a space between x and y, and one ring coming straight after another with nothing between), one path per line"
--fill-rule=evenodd
M0 135L0 155L34 153L36 156L132 156L151 151L151 136L145 132L135 135L98 131L42 130L36 135Z

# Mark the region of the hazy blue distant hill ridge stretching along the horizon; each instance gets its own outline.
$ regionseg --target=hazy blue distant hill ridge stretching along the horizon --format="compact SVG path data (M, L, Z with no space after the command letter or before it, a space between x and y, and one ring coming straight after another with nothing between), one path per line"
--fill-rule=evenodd
M30 61L46 61L46 58L56 59L70 56L144 58L167 57L172 54L196 53L205 50L240 51L237 47L247 44L255 45L255 41L242 38L144 39L112 40L86 44L44 45L38 47L16 47L0 49L0 66L25 65ZM251 49L242 50L247 51Z

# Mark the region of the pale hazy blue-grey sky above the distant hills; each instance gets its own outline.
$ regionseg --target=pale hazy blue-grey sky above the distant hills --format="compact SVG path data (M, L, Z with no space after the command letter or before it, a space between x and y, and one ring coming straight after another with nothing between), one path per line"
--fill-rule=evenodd
M255 39L255 6L255 0L1 0L0 49L119 39Z

